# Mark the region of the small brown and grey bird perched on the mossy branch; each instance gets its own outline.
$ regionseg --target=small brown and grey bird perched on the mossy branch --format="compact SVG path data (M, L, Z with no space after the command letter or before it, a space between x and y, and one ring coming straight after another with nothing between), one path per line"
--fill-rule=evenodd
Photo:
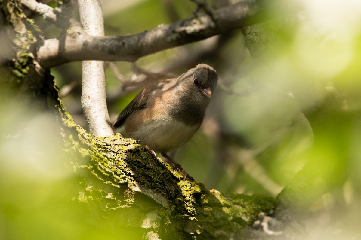
M161 153L183 172L185 179L186 172L167 153L196 133L216 86L216 71L198 64L178 78L145 87L119 114L113 128L124 124L126 137L138 139Z

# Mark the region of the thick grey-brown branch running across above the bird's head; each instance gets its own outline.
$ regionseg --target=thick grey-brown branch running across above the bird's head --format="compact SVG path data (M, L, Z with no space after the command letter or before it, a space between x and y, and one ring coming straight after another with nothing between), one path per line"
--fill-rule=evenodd
M260 12L257 1L242 2L218 9L217 26L207 14L187 18L130 36L95 37L87 33L61 36L38 45L36 57L43 67L81 60L129 61L164 49L203 40L252 23Z

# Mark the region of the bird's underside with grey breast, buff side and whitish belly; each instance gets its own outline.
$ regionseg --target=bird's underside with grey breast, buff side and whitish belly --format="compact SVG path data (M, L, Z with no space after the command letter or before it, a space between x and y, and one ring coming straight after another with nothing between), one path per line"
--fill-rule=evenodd
M208 103L187 95L180 98L178 89L153 94L147 108L127 117L126 137L138 139L159 153L174 151L199 129Z

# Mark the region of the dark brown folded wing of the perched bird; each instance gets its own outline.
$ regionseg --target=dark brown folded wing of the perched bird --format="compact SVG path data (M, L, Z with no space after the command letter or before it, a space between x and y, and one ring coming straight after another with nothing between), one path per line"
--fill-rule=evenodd
M113 124L113 128L121 127L125 119L132 113L138 111L139 109L147 107L148 97L155 90L156 85L153 83L145 87L140 91L134 99L124 108L124 110L119 114L117 121Z

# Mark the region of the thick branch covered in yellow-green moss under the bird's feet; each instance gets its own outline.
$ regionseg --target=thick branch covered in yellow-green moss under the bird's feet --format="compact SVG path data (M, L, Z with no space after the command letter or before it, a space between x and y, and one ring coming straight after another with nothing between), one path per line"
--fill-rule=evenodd
M121 219L116 225L131 222L132 227L148 228L162 239L227 238L248 228L260 212L273 213L274 200L269 196L209 191L200 183L184 181L180 172L153 157L138 141L119 134L91 136L66 111L59 113L65 149L74 156L75 173L86 183L79 199ZM129 209L142 213L137 221L134 214L124 214Z

